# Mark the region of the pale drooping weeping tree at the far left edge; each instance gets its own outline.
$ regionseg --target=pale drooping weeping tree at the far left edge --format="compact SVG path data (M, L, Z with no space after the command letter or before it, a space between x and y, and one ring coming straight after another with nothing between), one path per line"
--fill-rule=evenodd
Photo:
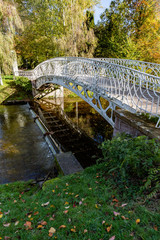
M14 36L22 22L14 1L0 0L0 70L10 73L13 64Z

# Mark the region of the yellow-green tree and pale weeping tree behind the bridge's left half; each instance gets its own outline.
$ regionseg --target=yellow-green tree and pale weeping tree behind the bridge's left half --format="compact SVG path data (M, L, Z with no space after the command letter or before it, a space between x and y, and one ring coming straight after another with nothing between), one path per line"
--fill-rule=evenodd
M58 56L92 57L96 37L90 9L98 1L16 0L24 23L16 46L23 64L34 67Z

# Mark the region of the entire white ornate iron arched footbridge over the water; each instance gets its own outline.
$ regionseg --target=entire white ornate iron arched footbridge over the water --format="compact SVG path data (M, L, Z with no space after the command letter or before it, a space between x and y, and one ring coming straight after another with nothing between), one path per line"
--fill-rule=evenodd
M117 108L157 117L160 127L160 64L128 59L53 58L19 71L36 90L45 84L68 88L114 127Z

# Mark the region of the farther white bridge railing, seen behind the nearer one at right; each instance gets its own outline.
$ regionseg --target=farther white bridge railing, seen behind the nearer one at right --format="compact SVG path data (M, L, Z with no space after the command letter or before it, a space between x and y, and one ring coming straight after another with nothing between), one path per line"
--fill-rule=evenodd
M160 64L120 58L95 58L100 61L118 64L160 77Z

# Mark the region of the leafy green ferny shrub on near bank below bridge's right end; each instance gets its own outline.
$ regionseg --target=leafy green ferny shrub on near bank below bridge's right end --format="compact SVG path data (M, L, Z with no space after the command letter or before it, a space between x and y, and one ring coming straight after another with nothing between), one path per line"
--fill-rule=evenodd
M119 135L101 146L106 168L121 191L143 192L148 197L160 190L160 144L146 136Z

